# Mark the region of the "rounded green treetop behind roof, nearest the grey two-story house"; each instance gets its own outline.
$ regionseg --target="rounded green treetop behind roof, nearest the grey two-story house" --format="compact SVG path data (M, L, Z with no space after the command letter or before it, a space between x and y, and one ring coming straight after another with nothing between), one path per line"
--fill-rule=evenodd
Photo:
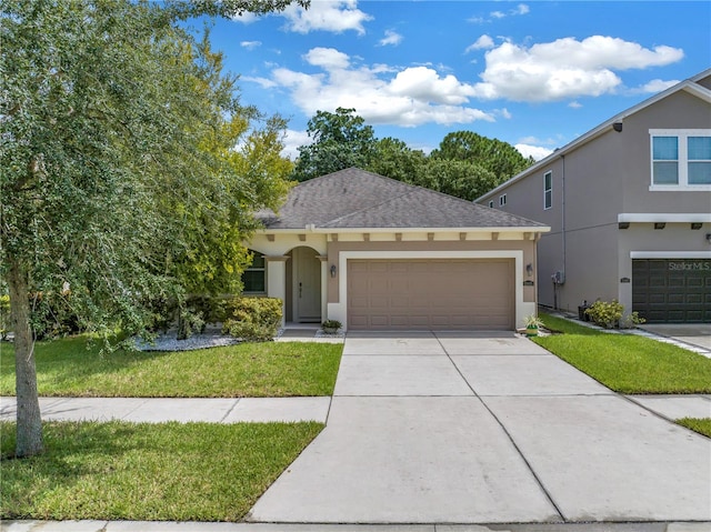
M447 134L440 142L439 149L432 150L430 157L475 162L495 175L495 183L491 188L501 184L534 162L531 158L524 158L508 142L489 139L473 131L455 131Z

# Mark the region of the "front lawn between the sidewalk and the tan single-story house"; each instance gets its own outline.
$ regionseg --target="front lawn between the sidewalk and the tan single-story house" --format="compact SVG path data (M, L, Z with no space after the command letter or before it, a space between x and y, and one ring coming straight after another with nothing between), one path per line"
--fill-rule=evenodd
M37 381L46 397L331 395L342 350L342 344L264 342L100 354L86 338L68 338L37 343ZM7 342L0 344L0 394L14 395L14 354Z

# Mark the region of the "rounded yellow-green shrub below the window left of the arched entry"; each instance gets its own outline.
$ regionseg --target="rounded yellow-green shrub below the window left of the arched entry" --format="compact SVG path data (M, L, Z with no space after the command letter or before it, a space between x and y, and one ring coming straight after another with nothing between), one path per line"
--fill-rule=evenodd
M281 325L281 300L277 298L236 298L227 300L232 310L222 332L250 342L273 340Z

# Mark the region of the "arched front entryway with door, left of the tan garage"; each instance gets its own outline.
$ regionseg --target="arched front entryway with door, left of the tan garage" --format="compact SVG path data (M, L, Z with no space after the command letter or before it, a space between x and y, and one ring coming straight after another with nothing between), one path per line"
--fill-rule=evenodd
M299 323L321 322L321 261L311 248L294 248L293 320Z

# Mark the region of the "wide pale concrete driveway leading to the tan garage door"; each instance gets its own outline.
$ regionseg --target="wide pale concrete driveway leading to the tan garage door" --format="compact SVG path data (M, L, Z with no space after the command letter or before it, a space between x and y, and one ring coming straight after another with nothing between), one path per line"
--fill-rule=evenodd
M328 425L251 521L711 520L711 440L513 333L349 333Z

